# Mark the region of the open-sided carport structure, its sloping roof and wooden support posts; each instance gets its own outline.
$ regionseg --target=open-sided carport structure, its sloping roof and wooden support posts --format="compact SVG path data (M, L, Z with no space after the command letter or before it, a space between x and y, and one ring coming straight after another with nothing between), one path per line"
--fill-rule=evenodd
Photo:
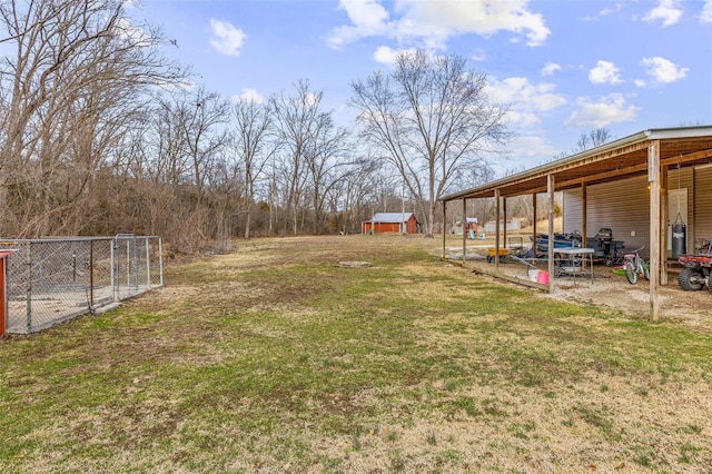
M534 207L534 229L536 229L536 199L537 195L544 195L548 217L550 236L554 234L554 194L557 191L575 190L581 197L578 223L581 231L586 237L587 215L592 210L600 210L606 204L602 199L590 198L594 194L590 189L599 185L614 181L644 178L647 182L647 209L649 249L650 249L650 319L660 318L659 286L668 284L668 224L671 221L668 215L669 176L674 169L680 176L684 168L696 170L712 166L712 126L680 127L665 129L649 129L629 137L602 145L600 147L572 155L567 158L555 160L538 166L527 171L512 175L482 186L455 192L442 198L443 221L446 221L447 203L462 200L463 215L468 199L494 198L496 236L502 231L506 235L506 228L500 228L500 221L504 211L506 215L506 199L508 197L532 195ZM700 176L703 174L700 172ZM695 192L712 195L711 178L704 178L692 188ZM696 203L696 201L695 201ZM566 210L564 210L566 213ZM712 213L712 200L700 200L693 209L693 219L709 216ZM673 217L674 219L674 217ZM706 217L704 218L706 223ZM710 223L712 224L712 223ZM706 224L705 224L706 225ZM704 228L703 225L694 228ZM543 229L541 229L543 230ZM541 231L540 230L540 231ZM548 274L554 275L553 238L548 239L547 267ZM463 261L465 260L465 237L463 236ZM500 267L500 238L495 240L495 273ZM443 233L443 258L445 258L445 233ZM550 278L548 292L554 290L554 278Z

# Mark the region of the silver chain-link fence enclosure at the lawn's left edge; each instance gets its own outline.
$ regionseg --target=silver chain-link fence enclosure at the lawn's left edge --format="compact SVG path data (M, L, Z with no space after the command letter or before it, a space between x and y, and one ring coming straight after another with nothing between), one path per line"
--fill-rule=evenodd
M7 258L6 332L31 334L162 286L161 239L121 234L0 239Z

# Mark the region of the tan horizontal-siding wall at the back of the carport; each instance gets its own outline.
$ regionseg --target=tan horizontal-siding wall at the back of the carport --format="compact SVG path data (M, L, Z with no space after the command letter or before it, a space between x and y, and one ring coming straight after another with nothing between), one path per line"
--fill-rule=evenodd
M705 171L704 176L702 176L702 171ZM696 194L693 192L695 186ZM701 226L704 225L704 233L712 237L712 196L701 196L711 192L699 191L700 189L712 190L712 168L698 170L694 186L692 168L683 168L680 175L676 169L671 169L668 177L668 188L678 189L679 187L688 189L688 220L690 220L686 223L688 250L692 251L694 239L700 238ZM613 238L623 240L626 249L645 246L645 250L647 250L650 244L649 192L646 176L589 186L586 228L589 237L593 237L600 228L609 227L613 231ZM564 231L581 230L582 190L564 191L563 203ZM695 216L694 219L692 216ZM674 220L675 217L669 216L669 219ZM642 254L647 256L645 250Z

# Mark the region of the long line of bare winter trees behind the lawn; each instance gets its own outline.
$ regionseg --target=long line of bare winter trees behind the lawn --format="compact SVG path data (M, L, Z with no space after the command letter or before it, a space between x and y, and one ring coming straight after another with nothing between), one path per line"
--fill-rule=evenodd
M308 80L264 102L228 100L161 56L169 45L132 22L120 0L0 4L0 236L134 233L196 251L233 237L357 233L373 213L403 207L432 234L434 203L448 186L491 176L471 152L484 149L488 129L468 131L484 110L484 76L467 76L458 58L399 58L402 72L414 71L403 77L429 81L428 97L437 87L462 90L447 103L463 107L411 113L404 107L419 99L402 97L384 109L400 117L390 126L397 141L367 129L380 126L368 95L383 91L379 81L354 83L366 127L356 137L335 124ZM457 81L465 82L452 87ZM494 119L483 122L502 141L505 109L487 107ZM457 116L445 117L452 110ZM434 122L428 113L453 124L443 139L423 134L422 124ZM478 171L461 171L456 160Z

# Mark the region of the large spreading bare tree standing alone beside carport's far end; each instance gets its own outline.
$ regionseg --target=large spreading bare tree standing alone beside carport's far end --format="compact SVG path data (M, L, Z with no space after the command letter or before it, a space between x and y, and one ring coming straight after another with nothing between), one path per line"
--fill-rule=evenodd
M399 53L389 75L352 82L364 139L384 151L426 206L429 237L436 203L456 170L486 167L484 156L510 137L506 108L487 101L485 86L485 75L467 70L465 59L424 51Z

